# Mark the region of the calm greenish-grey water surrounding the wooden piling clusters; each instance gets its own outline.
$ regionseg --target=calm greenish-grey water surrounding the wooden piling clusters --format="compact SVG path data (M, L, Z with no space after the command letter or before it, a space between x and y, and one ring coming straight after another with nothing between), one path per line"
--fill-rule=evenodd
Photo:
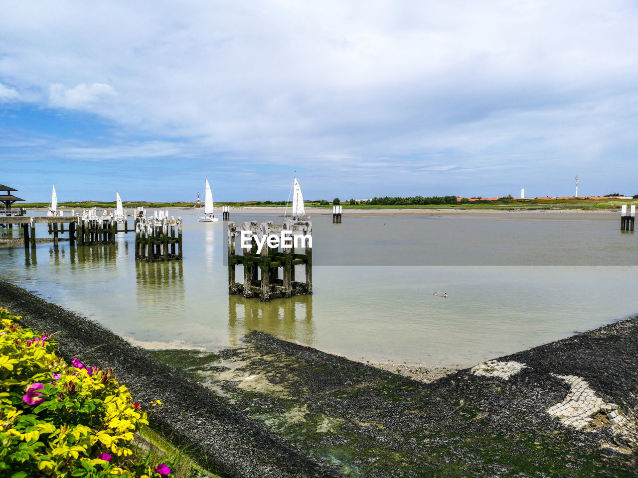
M212 350L255 329L428 365L473 365L638 312L638 267L615 265L637 256L638 236L616 221L315 217L313 254L325 265L313 268L314 295L260 303L228 296L225 224L171 214L184 218L182 262L137 263L134 235L121 234L115 246L0 249L0 275L147 347ZM398 265L357 265L375 263Z

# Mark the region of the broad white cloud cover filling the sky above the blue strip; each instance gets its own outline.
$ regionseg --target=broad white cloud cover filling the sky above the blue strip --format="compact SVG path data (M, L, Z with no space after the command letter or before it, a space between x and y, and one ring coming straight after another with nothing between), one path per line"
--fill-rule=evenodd
M167 141L176 157L343 163L416 185L451 168L485 171L477 184L542 182L550 163L638 173L630 0L192 0L179 10L61 0L3 13L0 81L160 141L140 157L168 152ZM85 147L64 154L103 152Z

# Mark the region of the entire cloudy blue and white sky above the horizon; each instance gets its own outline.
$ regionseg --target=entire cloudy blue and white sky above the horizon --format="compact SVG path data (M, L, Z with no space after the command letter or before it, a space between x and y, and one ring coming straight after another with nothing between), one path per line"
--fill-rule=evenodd
M638 4L13 1L27 201L638 194Z

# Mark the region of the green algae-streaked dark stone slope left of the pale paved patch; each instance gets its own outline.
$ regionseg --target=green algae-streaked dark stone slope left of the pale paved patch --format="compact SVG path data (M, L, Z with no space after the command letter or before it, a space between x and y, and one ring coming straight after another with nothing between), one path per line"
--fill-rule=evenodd
M553 419L568 387L530 367L428 385L256 332L221 355L224 372L199 364L199 380L346 475L634 476L635 443Z

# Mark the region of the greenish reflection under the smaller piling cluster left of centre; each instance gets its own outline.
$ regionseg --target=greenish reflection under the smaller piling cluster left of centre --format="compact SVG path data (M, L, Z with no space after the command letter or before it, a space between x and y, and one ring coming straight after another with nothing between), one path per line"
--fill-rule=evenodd
M181 261L135 261L137 308L174 314L184 308L184 272Z

